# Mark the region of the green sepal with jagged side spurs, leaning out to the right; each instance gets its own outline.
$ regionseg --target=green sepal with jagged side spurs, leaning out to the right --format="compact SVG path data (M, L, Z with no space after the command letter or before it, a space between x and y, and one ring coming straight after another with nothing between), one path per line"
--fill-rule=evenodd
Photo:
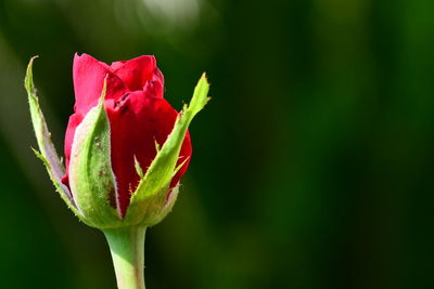
M173 188L174 192L171 192L169 199L166 200L170 191L170 181L177 170L176 163L189 124L209 101L207 96L208 90L209 83L205 74L203 74L194 89L190 105L184 105L173 131L132 194L124 220L126 223L153 226L161 222L171 210L178 195L178 187Z

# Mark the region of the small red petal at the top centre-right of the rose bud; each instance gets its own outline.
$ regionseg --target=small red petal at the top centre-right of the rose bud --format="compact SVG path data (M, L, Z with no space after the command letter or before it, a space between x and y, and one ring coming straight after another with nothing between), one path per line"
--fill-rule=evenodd
M142 55L126 62L115 62L111 67L130 91L137 91L142 90L152 78L156 61L154 56Z

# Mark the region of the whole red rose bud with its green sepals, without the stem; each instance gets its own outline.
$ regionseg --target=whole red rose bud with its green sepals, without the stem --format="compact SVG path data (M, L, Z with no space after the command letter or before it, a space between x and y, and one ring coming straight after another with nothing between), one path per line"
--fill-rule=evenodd
M178 114L163 98L154 56L111 65L74 57L74 114L63 167L51 143L33 83L25 80L40 157L68 207L99 228L151 226L171 210L191 157L188 127L208 101L205 75Z

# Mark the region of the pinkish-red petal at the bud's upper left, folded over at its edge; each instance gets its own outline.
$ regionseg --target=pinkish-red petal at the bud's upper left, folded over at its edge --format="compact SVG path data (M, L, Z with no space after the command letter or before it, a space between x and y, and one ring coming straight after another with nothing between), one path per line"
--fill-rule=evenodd
M73 78L75 91L75 109L86 115L97 105L101 96L104 78L107 76L105 98L117 100L126 92L123 81L112 73L110 66L88 54L75 54Z

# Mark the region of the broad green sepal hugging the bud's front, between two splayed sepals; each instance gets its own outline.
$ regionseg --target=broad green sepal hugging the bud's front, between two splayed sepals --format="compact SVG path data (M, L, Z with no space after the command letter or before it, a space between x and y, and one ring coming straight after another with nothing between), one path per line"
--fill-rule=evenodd
M75 131L69 160L74 199L91 226L98 228L123 226L115 209L116 182L111 161L110 122L104 109L105 90L104 80L99 104Z

